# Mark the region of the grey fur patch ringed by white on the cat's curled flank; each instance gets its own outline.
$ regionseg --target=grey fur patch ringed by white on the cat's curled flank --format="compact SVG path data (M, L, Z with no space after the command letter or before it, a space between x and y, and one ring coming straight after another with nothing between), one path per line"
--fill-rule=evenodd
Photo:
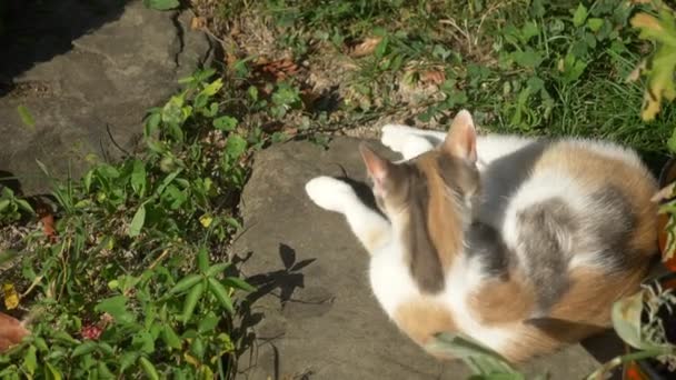
M566 292L566 276L571 239L579 229L573 210L560 198L536 203L517 216L518 240L524 267L537 291L540 312L548 310Z

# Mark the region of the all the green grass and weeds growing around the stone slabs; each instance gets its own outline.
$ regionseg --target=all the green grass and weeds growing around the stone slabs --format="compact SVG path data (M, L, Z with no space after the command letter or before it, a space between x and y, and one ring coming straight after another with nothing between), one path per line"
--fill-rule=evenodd
M668 153L674 108L645 122L646 83L626 81L653 51L629 27L636 7L192 0L223 63L149 111L138 152L54 180L51 197L0 193L4 304L32 321L0 378L230 378L252 287L227 247L251 156L270 143L446 129L468 108L487 132Z

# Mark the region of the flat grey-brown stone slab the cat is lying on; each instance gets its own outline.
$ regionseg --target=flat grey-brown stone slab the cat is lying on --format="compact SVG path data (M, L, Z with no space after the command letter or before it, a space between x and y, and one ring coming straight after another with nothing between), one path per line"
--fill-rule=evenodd
M239 257L250 253L242 271L262 289L247 318L256 340L240 358L241 379L455 380L467 374L461 363L437 362L397 331L370 292L367 253L342 217L305 194L306 181L340 176L340 166L364 180L357 144L341 138L324 150L289 142L256 157L242 196L246 232L233 247ZM596 366L578 344L524 370L570 380Z

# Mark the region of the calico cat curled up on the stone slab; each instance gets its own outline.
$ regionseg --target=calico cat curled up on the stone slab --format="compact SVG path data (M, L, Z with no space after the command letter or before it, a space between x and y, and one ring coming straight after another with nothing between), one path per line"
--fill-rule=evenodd
M381 213L338 179L306 191L345 214L376 298L418 344L461 332L520 362L608 328L612 303L645 278L657 188L634 151L477 136L465 110L446 137L382 132L402 161L360 146Z

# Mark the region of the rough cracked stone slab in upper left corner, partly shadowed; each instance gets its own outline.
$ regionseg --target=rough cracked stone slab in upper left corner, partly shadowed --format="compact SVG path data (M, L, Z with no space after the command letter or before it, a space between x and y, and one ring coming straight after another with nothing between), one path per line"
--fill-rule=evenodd
M84 0L44 7L51 7L44 22L62 19L31 36L31 44L14 36L7 56L32 61L0 62L0 82L9 89L0 98L0 171L18 176L28 193L47 190L36 159L56 176L70 170L78 178L89 161L121 154L112 140L132 150L146 111L175 93L178 79L212 59L209 39L190 29L188 12L149 10L141 1L97 6L103 9ZM71 16L73 24L89 23L69 27L63 20ZM47 54L50 44L60 50ZM21 122L19 106L29 109L34 127Z

